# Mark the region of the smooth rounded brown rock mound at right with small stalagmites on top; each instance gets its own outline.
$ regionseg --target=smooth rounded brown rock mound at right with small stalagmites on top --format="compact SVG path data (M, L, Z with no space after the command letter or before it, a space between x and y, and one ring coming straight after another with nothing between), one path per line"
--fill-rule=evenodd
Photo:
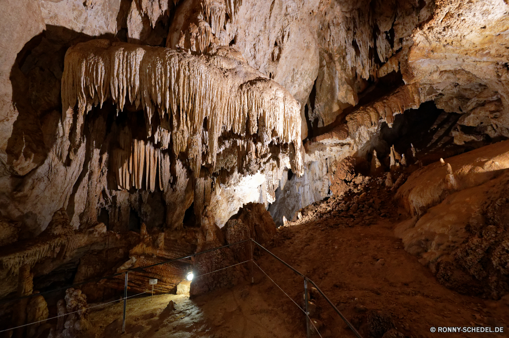
M431 164L398 190L401 205L414 216L395 230L405 249L462 293L497 299L509 292L507 145L502 141Z

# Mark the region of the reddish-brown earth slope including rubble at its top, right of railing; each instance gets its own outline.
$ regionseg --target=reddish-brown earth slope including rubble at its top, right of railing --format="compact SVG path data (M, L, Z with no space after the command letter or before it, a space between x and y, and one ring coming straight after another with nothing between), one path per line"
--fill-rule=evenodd
M490 336L509 336L509 303L461 295L439 284L395 237L394 227L408 215L393 205L392 191L381 179L366 181L343 197L304 208L300 220L279 228L270 251L317 283L364 337L432 337L437 333L431 327L444 326L504 327L504 333ZM282 289L295 288L288 278L278 278L280 265L261 266ZM321 296L310 296L321 333L353 336ZM459 335L479 334L486 335Z

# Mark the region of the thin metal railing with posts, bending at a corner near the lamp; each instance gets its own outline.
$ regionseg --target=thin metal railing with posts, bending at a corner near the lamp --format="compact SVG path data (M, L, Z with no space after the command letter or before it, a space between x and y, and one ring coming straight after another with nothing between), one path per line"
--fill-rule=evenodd
M135 297L135 296L138 296L138 295L141 295L141 294L144 294L144 293L148 293L150 291L146 291L146 292L141 292L141 293L138 293L138 294L135 294L135 295L131 295L131 296L127 296L127 291L128 291L128 276L129 276L129 273L130 272L141 272L143 271L144 269L147 269L147 268L151 268L151 267L155 267L155 266L158 266L158 265L162 265L162 264L168 264L168 263L173 263L173 262L177 262L177 261L182 261L182 260L186 260L186 259L189 259L189 258L192 258L192 257L196 257L198 255L202 255L202 254L206 254L206 253L209 253L209 252L212 252L212 251L217 251L217 250L221 250L221 249L224 249L224 248L229 248L229 247L232 247L233 245L237 245L237 244L241 244L241 243L245 243L245 242L248 242L249 241L249 255L250 255L250 259L246 260L246 261L243 261L243 262L240 262L240 263L236 263L236 264L232 264L232 265L229 265L227 267L223 267L223 268L220 268L220 269L217 269L217 270L214 270L214 271L210 271L210 272L206 272L206 273L203 273L203 274L200 274L200 275L197 275L197 276L194 276L193 277L193 280L197 279L197 278L200 278L201 276L204 276L204 275L207 275L207 274L210 274L210 273L214 273L214 272L217 272L217 271L220 271L220 270L224 270L224 269L227 269L227 268L230 268L230 267L233 267L233 266L236 266L236 265L240 265L240 264L243 264L243 263L247 263L247 262L251 262L250 264L250 272L251 272L251 283L254 283L254 276L253 276L253 264L256 265L283 293L285 293L296 305L297 307L304 312L305 314L305 317L306 317L306 334L307 334L307 337L309 338L310 337L310 325L309 324L312 324L313 326L315 326L315 324L313 324L313 322L311 321L310 317L309 317L309 308L308 308L308 283L312 284L316 290L324 297L324 299L330 304L330 306L332 307L332 309L334 310L334 312L337 313L337 315L340 316L340 318L348 325L348 327L354 332L354 334L358 337L358 338L362 338L362 336L360 335L360 333L355 329L355 327L345 318L345 316L343 316L343 314L336 308L336 306L330 301L330 299L323 293L323 291L316 285L315 282L313 282L312 280L310 280L306 275L304 275L303 273L299 272L298 270L296 270L294 267L292 267L291 265L289 265L288 263L286 263L285 261L283 261L282 259L280 259L279 257L277 257L276 255L274 255L273 253L271 253L269 250L267 250L265 247L263 247L263 245L261 245L260 243L258 243L257 241L255 241L254 239L244 239L244 240L241 240L241 241L238 241L238 242L235 242L235 243L231 243L231 244L227 244L227 245L222 245L221 247L218 247L218 248L213 248L213 249L209 249L209 250L205 250L205 251L202 251L202 252L199 252L199 253L194 253L194 254L191 254L191 255L187 255L187 256L184 256L184 257L179 257L179 258L175 258L175 259L169 259L169 260L165 260L165 261L162 261L162 262L158 262L158 263L155 263L155 264L151 264L151 265L147 265L147 266L142 266L142 267L136 267L136 268L131 268L131 269L127 269L126 271L123 271L123 272L119 272L119 273L114 273L114 274L111 274L111 275L107 275L107 276L102 276L100 278L94 278L94 279L90 279L90 280L87 280L87 281L83 281L83 282L80 282L80 283L75 283L75 284L72 284L72 285L68 285L68 286L65 286L65 287L60 287L60 288L55 288L55 289L52 289L52 290L48 290L48 291L43 291L43 292L40 292L40 293L36 293L36 294L32 294L32 295L26 295L26 296L22 296L22 297L17 297L17 298L14 298L14 299L4 299L4 300L0 300L0 305L1 304L5 304L5 303L10 303L10 302L15 302L15 301L19 301L19 300L22 300L22 299L26 299L26 298L30 298L30 297L34 297L34 296L39 296L39 295L43 295L43 294L48 294L48 293L53 293L53 292L56 292L56 291L62 291L62 290L67 290L69 288L75 288L77 286L81 286L81 285L84 285L84 284L88 284L88 283L94 283L94 282L100 282L100 281L104 281L104 280L107 280L107 279L110 279L110 278L115 278L115 277L118 277L118 276L121 276L121 275L125 275L125 279L124 279L124 292L123 292L123 297L121 299L116 299L114 301L109 301L109 302L106 302L106 303L101 303L101 304L98 304L98 305L94 305L94 306L90 306L89 308L87 309L82 309L82 310L79 310L79 311L75 311L75 312L71 312L71 313L65 313L65 314L62 314L62 315L58 315L58 316L55 316L55 317L52 317L52 318L48 318L48 319L45 319L45 320L41 320L41 321L38 321L38 322L34 322L34 323L29 323L29 324L24 324L24 325L20 325L20 326L16 326L16 327L11 327L11 328L8 328L8 329L5 329L5 330L0 330L0 333L2 332L5 332L5 331L9 331L9 330L14 330L14 329L18 329L18 328L21 328L21 327L25 327L25 326L29 326L29 325L32 325L32 324L37 324L37 323L40 323L40 322L44 322L44 321L48 321L48 320L51 320L51 319L55 319L55 318L59 318L59 317L63 317L63 316L67 316L67 315L70 315L72 313L76 313L76 312L82 312L82 311L86 311L88 309L92 309L92 308L96 308L97 306L101 306L101 305L105 305L105 304L108 304L108 303L112 303L112 302L116 302L116 301L119 301L119 300L123 300L124 301L124 304L123 304L123 320L122 320L122 332L125 332L125 325L126 325L126 308L127 308L127 299L128 298L132 298L132 297ZM251 243L252 242L252 243ZM305 309L302 309L301 306L299 306L279 285L277 285L277 283L270 278L270 276L256 263L254 262L253 260L253 247L251 244L254 244L254 245L257 245L257 247L259 247L260 249L262 249L264 252L268 253L270 256L274 257L277 261L279 261L280 263L284 264L287 268L289 268L290 270L292 270L293 272L295 272L296 274L300 275L302 278L303 278L303 282L304 282L304 302L305 302ZM318 329L315 327L315 330L316 332L321 336L321 334L318 332Z

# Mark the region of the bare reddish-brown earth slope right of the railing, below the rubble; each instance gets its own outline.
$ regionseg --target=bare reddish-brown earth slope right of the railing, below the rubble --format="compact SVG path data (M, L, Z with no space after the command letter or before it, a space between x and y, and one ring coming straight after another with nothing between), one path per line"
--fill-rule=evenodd
M396 328L409 337L509 336L509 307L440 285L394 237L393 228L399 221L335 228L332 218L286 227L271 251L315 281L348 319L375 310L390 314ZM323 299L318 304L324 311L322 330L330 329L333 336L353 336ZM431 327L476 325L505 326L506 333L430 331Z

